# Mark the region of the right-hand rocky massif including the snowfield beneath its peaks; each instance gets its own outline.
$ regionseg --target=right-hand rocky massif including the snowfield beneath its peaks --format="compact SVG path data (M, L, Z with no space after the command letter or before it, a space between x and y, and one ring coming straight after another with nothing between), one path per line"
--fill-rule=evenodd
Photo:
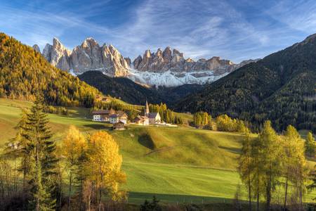
M184 58L183 53L170 47L156 53L145 51L133 60L131 75L135 82L156 87L176 87L183 84L206 84L216 81L230 72L257 60L245 60L234 64L230 60L214 56L208 60L200 58L195 61Z

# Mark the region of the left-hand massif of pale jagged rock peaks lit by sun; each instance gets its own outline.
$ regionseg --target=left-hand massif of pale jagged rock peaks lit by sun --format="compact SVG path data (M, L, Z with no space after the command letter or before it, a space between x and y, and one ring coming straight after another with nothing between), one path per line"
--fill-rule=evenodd
M46 44L42 54L55 67L77 75L88 70L100 70L112 77L126 76L131 63L131 59L121 56L114 46L99 46L93 38L85 39L72 51L54 38L53 45Z

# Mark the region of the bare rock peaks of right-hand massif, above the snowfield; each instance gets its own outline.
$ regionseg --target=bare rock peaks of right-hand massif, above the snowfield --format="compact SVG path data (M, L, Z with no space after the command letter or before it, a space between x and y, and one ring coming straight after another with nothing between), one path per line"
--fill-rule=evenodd
M133 61L133 66L136 70L148 72L166 72L168 70L171 72L195 72L213 70L215 75L222 75L254 61L256 60L234 64L230 60L223 60L217 56L208 60L201 58L195 61L191 58L185 59L183 53L180 53L176 49L171 51L171 48L168 46L164 51L158 49L156 53L151 53L150 50L145 51L143 57L138 56Z

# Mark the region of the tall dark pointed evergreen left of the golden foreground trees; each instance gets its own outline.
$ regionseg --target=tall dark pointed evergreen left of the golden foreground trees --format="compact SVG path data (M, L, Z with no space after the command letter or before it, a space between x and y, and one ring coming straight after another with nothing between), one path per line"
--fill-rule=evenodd
M32 198L29 208L32 210L53 210L55 208L55 141L51 140L48 118L43 113L43 103L37 97L29 113L22 137L29 152L29 184Z

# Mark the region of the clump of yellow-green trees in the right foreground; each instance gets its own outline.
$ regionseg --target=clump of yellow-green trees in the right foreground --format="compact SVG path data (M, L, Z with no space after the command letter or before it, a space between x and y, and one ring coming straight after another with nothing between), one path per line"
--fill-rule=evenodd
M304 141L291 125L282 135L270 121L263 124L258 136L245 133L238 170L247 189L249 210L259 210L262 201L265 210L272 210L272 205L277 206L275 209L303 210L303 196L308 187L312 188L305 152L315 155L315 139L309 133Z

